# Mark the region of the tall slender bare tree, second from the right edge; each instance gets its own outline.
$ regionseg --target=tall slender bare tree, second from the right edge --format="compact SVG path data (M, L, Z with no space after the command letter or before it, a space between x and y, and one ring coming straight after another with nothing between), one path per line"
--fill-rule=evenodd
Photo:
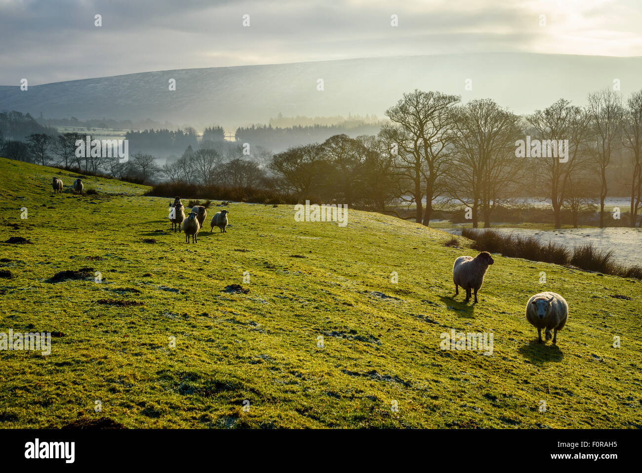
M609 193L607 168L617 146L623 109L621 98L611 89L589 94L588 111L595 141L594 161L600 177L600 228L604 228L604 201Z

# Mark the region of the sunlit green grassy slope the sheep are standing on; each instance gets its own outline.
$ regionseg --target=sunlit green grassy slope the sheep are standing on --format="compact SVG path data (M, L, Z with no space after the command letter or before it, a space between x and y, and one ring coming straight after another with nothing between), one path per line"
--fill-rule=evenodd
M0 242L32 243L0 243L0 332L55 334L49 356L0 352L0 427L642 427L639 281L496 255L467 305L451 271L468 240L394 217L232 203L228 233L188 245L144 186L0 175ZM569 303L557 346L525 319L542 290ZM492 355L440 350L451 329L492 332Z

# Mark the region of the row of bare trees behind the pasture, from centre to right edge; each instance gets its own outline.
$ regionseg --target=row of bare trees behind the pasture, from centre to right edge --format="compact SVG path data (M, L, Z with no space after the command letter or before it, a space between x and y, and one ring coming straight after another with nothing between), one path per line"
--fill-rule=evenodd
M589 94L587 107L560 99L523 118L489 99L460 105L459 96L415 90L386 116L390 122L376 137L334 136L322 145L290 148L277 154L270 168L300 199L377 202L379 210L401 199L415 204L415 219L424 225L440 199L470 206L473 226L481 218L489 227L494 210L528 195L551 201L556 228L564 206L577 220L582 206L597 197L603 227L609 166L618 156L624 164L616 175L629 176L629 224L636 224L642 199L642 91L626 103L614 91L598 91ZM519 153L517 142L526 136L536 145Z

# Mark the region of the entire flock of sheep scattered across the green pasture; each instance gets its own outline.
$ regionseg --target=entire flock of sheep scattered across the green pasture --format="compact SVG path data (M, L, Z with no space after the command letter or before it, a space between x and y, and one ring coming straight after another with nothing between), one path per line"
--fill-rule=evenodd
M58 177L53 178L53 192L62 193L62 180ZM82 194L83 184L80 179L76 179L73 184L73 192ZM227 210L217 212L211 220L211 229L218 227L221 233L227 233L225 227L228 225ZM174 231L184 231L185 241L189 243L189 237L192 243L198 242L198 232L203 227L203 222L207 218L207 209L202 205L193 206L189 214L185 215L185 207L180 197L175 197L170 206L169 221ZM466 302L471 298L474 291L475 303L477 303L477 291L480 290L483 283L483 277L489 265L494 263L492 256L487 251L482 251L474 258L471 256L460 256L455 260L453 265L453 281L455 282L455 296L459 294L459 287L466 291ZM564 328L568 317L568 304L555 292L540 292L528 299L526 304L526 320L537 328L538 341L542 343L542 328L546 329L544 334L546 340L551 339L551 330L553 330L553 343L557 343L557 332Z

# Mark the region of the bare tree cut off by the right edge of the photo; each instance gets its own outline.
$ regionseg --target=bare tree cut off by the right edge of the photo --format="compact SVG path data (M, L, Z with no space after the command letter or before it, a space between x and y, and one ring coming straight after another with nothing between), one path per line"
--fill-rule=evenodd
M638 220L642 191L642 90L631 94L622 120L622 143L631 152L631 206L629 226Z

